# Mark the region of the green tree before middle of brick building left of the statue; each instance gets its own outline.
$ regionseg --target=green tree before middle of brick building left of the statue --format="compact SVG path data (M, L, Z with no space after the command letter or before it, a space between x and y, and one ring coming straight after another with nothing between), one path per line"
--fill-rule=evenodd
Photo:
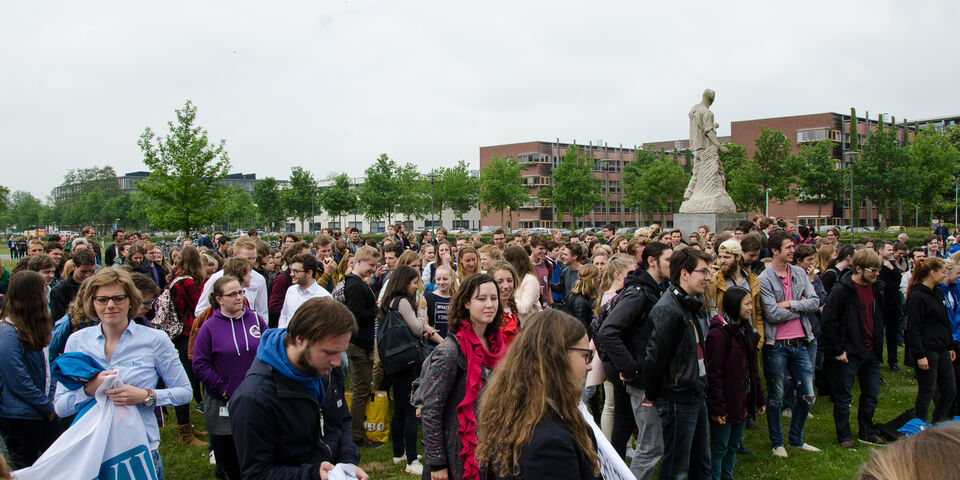
M564 212L569 212L573 228L577 228L577 218L587 216L603 200L603 185L593 176L595 164L593 156L572 145L553 168L553 185L541 189L540 198L553 202L558 222L563 221Z

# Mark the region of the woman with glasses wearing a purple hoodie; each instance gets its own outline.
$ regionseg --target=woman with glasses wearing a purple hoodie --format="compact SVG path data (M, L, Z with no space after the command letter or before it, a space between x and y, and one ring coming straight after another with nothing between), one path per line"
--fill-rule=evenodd
M227 401L240 386L257 356L266 321L243 304L237 277L224 275L213 283L210 305L215 309L203 323L193 346L193 371L207 394L203 419L217 463L227 477L240 479L240 464L230 431Z

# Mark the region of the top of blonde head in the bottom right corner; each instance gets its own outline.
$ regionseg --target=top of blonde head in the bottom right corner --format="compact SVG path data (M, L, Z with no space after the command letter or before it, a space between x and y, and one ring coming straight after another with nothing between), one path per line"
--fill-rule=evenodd
M859 480L953 478L960 470L960 423L948 422L904 437L873 456L860 468Z

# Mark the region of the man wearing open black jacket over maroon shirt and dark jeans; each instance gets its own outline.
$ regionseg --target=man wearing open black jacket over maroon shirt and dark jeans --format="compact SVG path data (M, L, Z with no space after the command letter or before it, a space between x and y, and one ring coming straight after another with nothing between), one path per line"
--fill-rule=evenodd
M837 384L833 401L833 422L837 441L843 448L854 447L850 432L850 391L860 379L857 407L858 439L878 443L873 412L880 393L880 365L883 360L883 290L877 282L882 268L880 256L862 248L853 255L853 267L840 277L823 307L823 340L826 354L837 360Z

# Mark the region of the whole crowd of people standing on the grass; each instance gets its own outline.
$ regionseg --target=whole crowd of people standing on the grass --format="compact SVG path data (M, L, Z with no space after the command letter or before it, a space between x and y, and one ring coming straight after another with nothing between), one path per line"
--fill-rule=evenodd
M637 479L730 479L738 455L765 454L743 441L761 418L770 455L819 452L804 440L818 396L838 445L883 445L884 368L914 370L913 417L960 414L960 245L942 233L841 245L760 216L630 239L606 225L484 243L402 223L380 241L325 229L271 248L251 229L168 253L123 230L103 254L90 227L25 239L0 267L0 462L33 464L111 375L158 478L167 407L218 478L367 478L374 390L392 393L393 462L432 480L598 478L626 461ZM95 373L67 381L68 357ZM884 465L863 478L901 478Z

